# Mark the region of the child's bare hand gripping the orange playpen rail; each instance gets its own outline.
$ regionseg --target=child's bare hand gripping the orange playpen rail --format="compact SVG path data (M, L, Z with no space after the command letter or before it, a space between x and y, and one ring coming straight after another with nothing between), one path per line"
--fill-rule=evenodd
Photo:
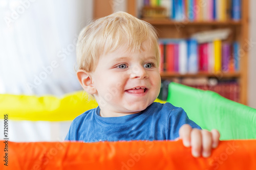
M207 130L192 129L188 124L181 126L179 130L179 139L183 140L185 147L191 147L192 155L199 157L209 157L211 149L216 148L219 144L220 133L214 129L210 132Z

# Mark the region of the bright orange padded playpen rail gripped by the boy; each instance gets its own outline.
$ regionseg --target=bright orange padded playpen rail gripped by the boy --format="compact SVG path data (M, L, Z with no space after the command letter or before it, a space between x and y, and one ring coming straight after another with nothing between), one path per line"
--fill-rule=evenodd
M256 169L256 140L221 141L209 158L194 158L180 140L0 142L0 169Z

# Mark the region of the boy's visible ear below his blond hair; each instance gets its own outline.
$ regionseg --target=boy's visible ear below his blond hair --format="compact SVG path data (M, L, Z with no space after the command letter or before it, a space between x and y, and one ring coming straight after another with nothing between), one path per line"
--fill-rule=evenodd
M79 83L81 84L82 88L88 92L89 94L95 94L97 92L93 81L92 77L90 76L90 73L83 70L79 69L76 72L76 76L78 78Z

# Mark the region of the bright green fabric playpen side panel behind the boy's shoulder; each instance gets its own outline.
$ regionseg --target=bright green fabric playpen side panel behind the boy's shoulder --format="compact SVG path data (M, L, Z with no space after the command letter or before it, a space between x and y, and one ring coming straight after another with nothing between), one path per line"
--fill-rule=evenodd
M170 83L167 102L182 107L203 129L218 129L221 140L256 139L256 109L216 92Z

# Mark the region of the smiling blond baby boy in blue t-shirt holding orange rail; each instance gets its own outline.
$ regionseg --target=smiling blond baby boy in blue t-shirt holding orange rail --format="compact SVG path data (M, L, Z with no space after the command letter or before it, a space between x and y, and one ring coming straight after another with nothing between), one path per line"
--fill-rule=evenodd
M85 27L77 43L77 77L98 107L76 117L66 140L84 142L182 139L194 157L219 143L182 108L154 102L159 94L159 46L152 25L125 12Z

